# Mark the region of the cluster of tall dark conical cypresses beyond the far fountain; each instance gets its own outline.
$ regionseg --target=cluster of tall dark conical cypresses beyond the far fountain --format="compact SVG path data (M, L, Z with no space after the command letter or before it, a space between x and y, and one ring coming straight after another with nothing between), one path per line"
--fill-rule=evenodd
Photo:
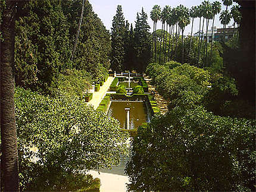
M121 5L117 6L111 28L112 70L145 70L151 55L150 27L147 20L148 15L142 8L141 13L137 13L134 31L132 24L129 30L129 23L124 21Z

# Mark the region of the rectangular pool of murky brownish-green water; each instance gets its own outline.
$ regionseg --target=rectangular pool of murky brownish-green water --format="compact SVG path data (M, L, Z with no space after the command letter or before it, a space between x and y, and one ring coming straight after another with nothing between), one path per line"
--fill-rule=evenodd
M126 128L127 112L124 110L125 108L130 108L130 129L138 128L143 122L150 121L150 113L145 102L112 100L110 109L108 109L108 116L118 119L121 128Z

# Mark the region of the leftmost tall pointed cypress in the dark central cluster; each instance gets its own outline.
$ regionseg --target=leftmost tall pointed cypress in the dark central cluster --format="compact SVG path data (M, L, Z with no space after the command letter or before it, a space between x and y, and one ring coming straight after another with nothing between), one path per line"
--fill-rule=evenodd
M124 15L121 5L117 5L111 27L111 68L114 71L122 71L124 63Z

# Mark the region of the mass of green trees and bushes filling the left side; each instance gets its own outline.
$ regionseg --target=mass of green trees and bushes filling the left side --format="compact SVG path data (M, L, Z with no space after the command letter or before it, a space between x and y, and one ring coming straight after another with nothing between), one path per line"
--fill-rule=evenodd
M110 33L88 1L13 3L20 190L99 191L86 171L117 165L127 152L118 121L84 100L108 77Z

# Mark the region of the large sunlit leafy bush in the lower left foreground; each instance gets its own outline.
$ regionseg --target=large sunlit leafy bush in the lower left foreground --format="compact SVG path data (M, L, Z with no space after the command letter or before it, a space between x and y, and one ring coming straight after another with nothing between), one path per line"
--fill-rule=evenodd
M118 121L83 100L21 88L14 99L22 191L53 191L68 175L118 165L127 154Z

